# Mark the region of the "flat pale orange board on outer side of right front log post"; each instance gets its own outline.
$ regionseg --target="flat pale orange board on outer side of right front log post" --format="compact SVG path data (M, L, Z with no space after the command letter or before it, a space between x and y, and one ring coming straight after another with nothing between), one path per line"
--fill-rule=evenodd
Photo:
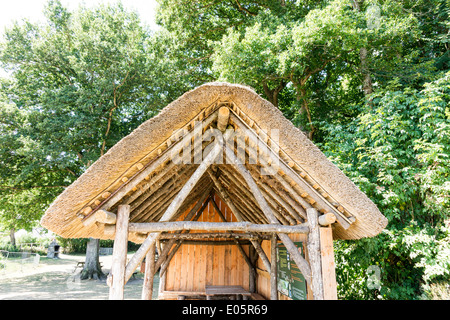
M337 300L336 265L333 250L333 229L320 228L320 253L322 257L323 298Z

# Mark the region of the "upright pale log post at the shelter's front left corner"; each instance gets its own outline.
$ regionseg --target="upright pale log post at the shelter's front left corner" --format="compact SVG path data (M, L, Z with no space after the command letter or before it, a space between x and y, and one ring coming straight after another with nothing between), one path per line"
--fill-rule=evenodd
M108 285L110 286L109 300L123 300L129 217L130 206L119 205L117 210L116 236L114 239L111 273L108 276Z

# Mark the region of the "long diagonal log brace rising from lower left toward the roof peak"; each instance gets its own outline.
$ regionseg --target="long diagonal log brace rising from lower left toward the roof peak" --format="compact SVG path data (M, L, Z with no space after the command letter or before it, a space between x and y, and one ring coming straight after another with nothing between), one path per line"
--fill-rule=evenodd
M227 133L225 133L223 138L226 138L226 136L229 136L229 134L227 135ZM217 158L219 153L222 152L222 150L223 150L223 141L216 141L214 147L211 149L211 151L208 153L208 155L205 157L205 159L198 166L198 168L195 170L195 172L183 186L181 191L177 194L175 199L169 205L167 210L164 212L163 216L160 219L161 222L169 221L177 214L178 209L183 204L183 201L187 198L187 196L195 187L197 182L200 180L200 178L203 176L206 170L210 167L210 165L215 161L215 159ZM125 281L128 281L128 279L131 278L134 270L136 270L137 266L142 262L144 256L147 254L150 247L158 239L159 235L160 232L151 233L147 237L147 239L142 243L140 248L136 251L134 256L130 259L127 268L125 270Z

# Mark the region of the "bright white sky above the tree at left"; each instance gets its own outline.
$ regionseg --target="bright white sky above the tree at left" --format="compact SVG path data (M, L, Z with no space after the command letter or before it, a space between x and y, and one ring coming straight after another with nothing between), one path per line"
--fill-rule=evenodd
M116 3L118 0L61 0L61 3L69 8L69 11L76 9L84 3L87 7L92 7L100 3ZM0 36L3 35L6 26L15 20L29 19L32 22L44 21L44 6L47 0L0 0ZM122 0L125 8L136 10L141 20L156 28L154 22L156 0Z

